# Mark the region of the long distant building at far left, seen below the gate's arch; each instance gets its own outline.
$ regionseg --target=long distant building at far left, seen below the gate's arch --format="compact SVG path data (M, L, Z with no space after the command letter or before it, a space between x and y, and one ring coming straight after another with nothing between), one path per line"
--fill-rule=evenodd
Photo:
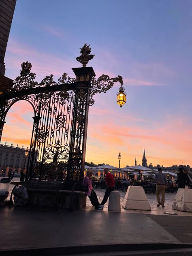
M22 147L13 147L0 144L0 176L7 177L9 173L20 173L21 170L26 171L28 163L28 156L26 156L27 149Z

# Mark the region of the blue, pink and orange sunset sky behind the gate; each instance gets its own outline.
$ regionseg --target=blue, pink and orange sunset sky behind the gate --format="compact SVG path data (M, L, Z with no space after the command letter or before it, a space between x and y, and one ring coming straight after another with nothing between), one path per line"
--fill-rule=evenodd
M127 102L120 109L116 83L94 97L89 109L86 161L121 167L142 164L192 166L191 0L17 0L6 49L6 77L32 63L40 82L71 68L90 44L96 78L121 75ZM2 134L8 145L30 143L33 110L11 107Z

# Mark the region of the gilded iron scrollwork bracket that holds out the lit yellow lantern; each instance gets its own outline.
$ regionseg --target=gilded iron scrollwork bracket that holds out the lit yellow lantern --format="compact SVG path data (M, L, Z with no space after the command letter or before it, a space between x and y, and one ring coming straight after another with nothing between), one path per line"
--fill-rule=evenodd
M93 96L96 93L104 92L106 93L111 87L113 87L114 83L119 82L121 85L123 85L123 78L122 76L110 78L108 75L102 75L97 80L95 77L92 78L91 84L91 92L90 92L90 99L89 99L89 106L94 105L94 99Z

